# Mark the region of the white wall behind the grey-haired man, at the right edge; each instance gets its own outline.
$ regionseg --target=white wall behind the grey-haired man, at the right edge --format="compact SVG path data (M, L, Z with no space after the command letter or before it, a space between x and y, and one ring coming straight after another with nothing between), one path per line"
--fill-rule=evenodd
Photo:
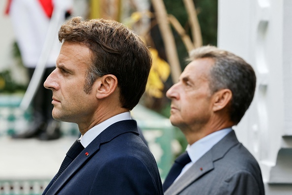
M218 47L257 74L254 101L234 129L260 162L270 195L292 193L291 18L291 0L218 1Z

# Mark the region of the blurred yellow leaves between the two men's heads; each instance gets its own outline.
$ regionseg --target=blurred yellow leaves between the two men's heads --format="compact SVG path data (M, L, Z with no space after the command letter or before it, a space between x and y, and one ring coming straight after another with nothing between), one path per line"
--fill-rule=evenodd
M163 97L163 83L170 75L170 66L158 56L156 49L150 48L149 50L152 55L153 64L146 85L146 93L149 96L161 98Z

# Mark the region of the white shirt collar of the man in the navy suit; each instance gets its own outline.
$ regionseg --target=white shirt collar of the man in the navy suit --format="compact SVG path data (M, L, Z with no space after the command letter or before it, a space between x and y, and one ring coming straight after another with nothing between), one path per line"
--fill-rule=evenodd
M81 135L80 142L83 145L83 147L87 147L90 142L95 139L103 130L107 129L109 126L111 126L114 123L117 123L118 121L124 121L124 120L130 120L131 119L131 113L130 112L124 112L121 114L118 114L116 116L113 116L104 122L94 126L90 130L88 130L84 135Z

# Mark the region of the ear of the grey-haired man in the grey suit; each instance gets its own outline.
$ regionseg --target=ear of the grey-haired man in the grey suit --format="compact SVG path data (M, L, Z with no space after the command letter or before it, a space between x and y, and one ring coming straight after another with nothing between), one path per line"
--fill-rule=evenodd
M222 89L214 94L213 111L219 111L227 107L232 99L232 92L230 89Z

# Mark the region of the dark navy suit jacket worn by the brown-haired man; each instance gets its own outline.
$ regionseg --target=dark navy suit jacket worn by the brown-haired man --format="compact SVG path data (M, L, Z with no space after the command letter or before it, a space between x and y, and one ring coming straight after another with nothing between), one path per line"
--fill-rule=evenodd
M53 180L43 195L163 195L157 164L134 120L102 131Z

